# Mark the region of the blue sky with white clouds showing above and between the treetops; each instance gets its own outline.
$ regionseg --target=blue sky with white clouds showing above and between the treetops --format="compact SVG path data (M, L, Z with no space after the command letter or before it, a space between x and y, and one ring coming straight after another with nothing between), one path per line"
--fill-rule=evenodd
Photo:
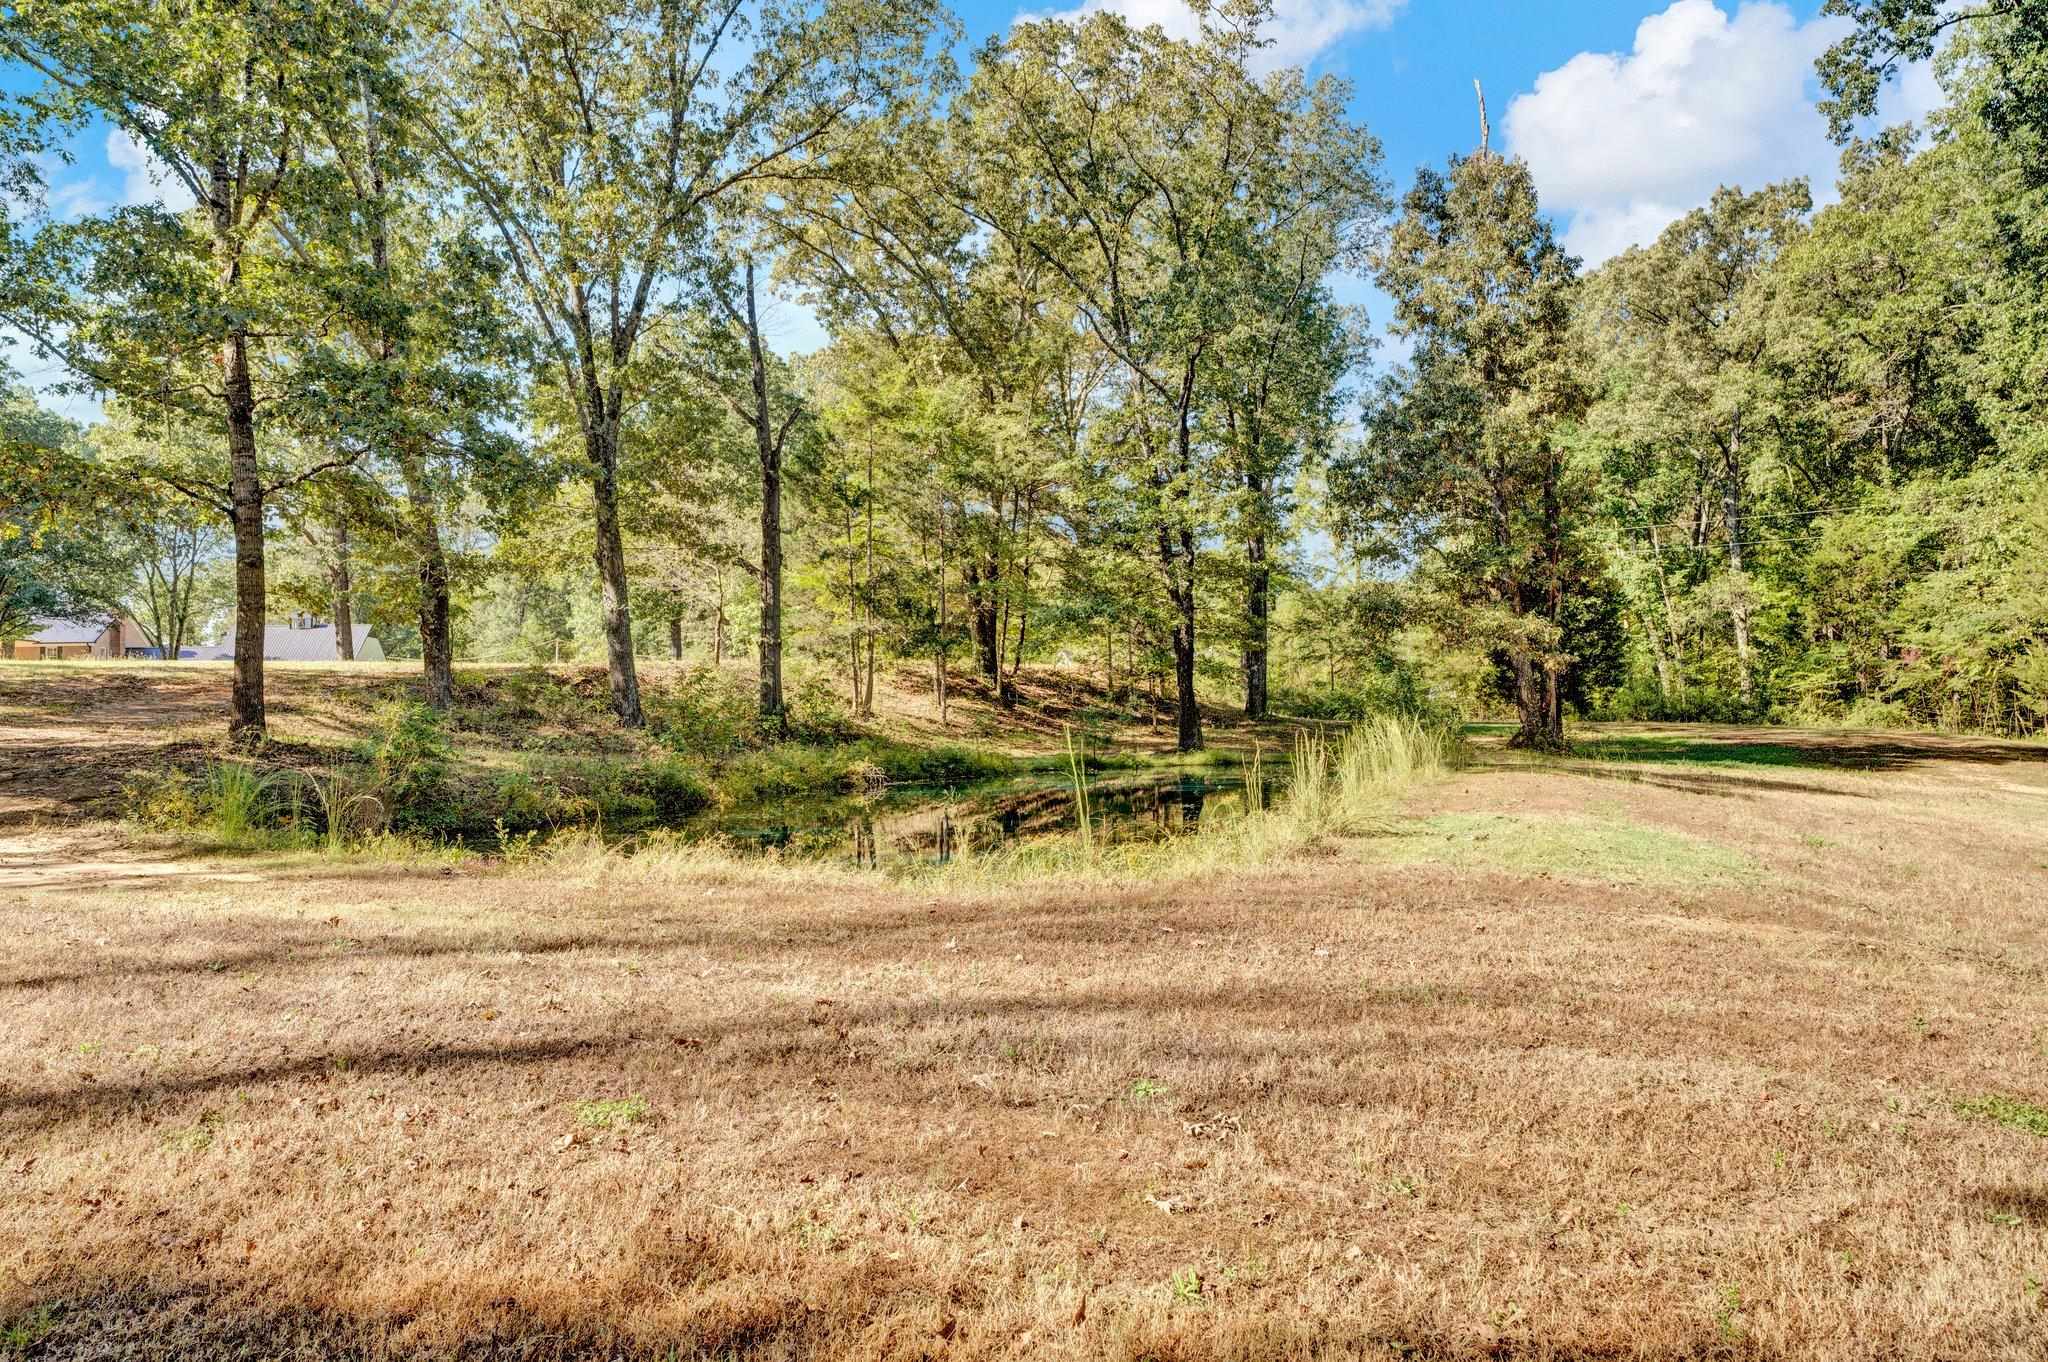
M969 47L1020 14L1114 8L1137 23L1190 31L1182 0L954 0ZM1843 20L1821 0L1276 0L1274 61L1333 72L1354 86L1352 111L1386 150L1399 197L1421 164L1479 139L1473 80L1487 90L1493 145L1528 160L1565 244L1589 264L1647 242L1716 184L1757 186L1794 174L1831 197L1812 59ZM1927 72L1892 88L1884 121L1923 117L1935 102ZM61 215L141 201L145 158L104 127L51 166ZM1356 279L1339 297L1384 320L1382 299ZM823 336L803 307L768 317L778 348ZM61 375L20 348L12 363L37 387ZM84 403L66 403L82 408ZM80 412L84 414L84 412Z

